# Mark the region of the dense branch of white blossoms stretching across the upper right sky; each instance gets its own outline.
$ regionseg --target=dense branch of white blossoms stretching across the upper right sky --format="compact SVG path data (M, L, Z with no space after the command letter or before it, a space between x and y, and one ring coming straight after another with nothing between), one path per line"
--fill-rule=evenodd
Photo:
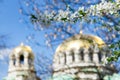
M58 22L74 22L78 19L87 19L89 16L98 16L102 17L104 14L106 15L114 15L114 17L118 17L120 10L120 0L115 0L115 2L107 2L102 0L101 3L96 5L91 5L90 7L79 7L75 12L67 10L59 10L58 12L47 12L45 11L43 14L39 14L38 22L40 25L49 26L52 21Z

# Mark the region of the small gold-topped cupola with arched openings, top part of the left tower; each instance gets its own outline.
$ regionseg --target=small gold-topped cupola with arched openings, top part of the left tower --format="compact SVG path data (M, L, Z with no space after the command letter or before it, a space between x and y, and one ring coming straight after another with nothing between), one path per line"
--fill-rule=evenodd
M13 49L10 54L9 72L16 71L16 69L31 69L34 70L34 55L29 46L21 44Z

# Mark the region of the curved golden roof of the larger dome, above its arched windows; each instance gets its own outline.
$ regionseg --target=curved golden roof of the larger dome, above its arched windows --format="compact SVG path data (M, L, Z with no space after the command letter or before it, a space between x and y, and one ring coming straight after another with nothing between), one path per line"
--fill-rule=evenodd
M78 34L60 44L56 49L56 53L72 49L89 48L95 44L97 44L98 47L102 47L105 45L105 42L97 36Z

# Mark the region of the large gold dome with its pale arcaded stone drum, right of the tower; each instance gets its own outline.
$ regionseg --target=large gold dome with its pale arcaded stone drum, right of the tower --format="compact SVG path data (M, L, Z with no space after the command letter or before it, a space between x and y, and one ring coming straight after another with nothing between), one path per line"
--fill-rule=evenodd
M115 70L103 64L109 56L105 42L97 36L78 34L60 44L54 54L53 76L71 75L82 80L101 80Z

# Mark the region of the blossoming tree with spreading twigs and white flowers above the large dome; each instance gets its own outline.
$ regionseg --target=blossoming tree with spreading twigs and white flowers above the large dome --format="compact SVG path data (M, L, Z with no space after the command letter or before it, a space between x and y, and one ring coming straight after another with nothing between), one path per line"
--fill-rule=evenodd
M44 2L44 3L43 3ZM44 31L51 47L79 32L103 38L112 49L108 61L120 56L120 0L20 0L19 12L35 31ZM27 16L27 17L26 17Z

